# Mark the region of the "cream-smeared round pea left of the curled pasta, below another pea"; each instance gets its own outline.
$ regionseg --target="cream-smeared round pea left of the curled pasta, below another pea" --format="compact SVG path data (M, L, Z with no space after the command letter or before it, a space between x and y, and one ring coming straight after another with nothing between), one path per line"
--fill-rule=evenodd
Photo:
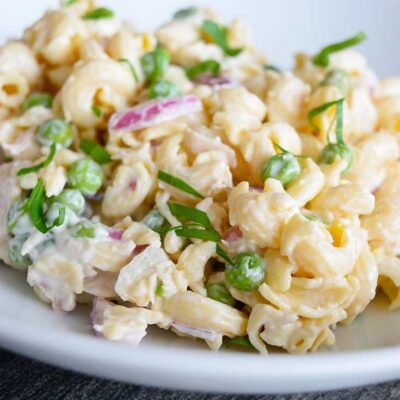
M85 158L75 161L68 172L68 184L84 196L93 196L103 185L103 169L95 161Z

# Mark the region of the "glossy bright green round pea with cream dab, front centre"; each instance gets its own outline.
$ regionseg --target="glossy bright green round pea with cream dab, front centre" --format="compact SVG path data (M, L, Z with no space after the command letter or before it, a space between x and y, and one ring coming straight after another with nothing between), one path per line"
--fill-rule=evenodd
M251 292L264 282L265 266L257 253L240 253L233 259L233 265L227 265L225 277L234 288Z

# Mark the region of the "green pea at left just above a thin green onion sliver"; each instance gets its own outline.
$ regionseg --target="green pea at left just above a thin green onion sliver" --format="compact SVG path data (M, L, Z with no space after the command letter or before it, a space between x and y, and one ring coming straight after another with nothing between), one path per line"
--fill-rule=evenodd
M72 125L59 118L46 121L39 129L39 142L43 146L50 146L52 143L56 143L62 147L69 147L73 136Z

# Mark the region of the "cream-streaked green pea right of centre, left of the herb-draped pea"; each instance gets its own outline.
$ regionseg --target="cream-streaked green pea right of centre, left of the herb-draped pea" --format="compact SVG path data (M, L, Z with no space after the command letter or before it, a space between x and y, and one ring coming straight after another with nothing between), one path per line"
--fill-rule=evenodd
M265 164L261 178L266 181L274 178L287 187L300 175L300 164L297 158L290 153L281 153L271 157Z

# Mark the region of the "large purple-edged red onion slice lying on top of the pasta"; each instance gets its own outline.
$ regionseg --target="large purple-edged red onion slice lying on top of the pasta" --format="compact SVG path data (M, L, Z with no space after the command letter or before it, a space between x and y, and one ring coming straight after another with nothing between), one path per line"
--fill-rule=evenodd
M191 95L158 99L115 113L109 122L110 131L137 131L203 110L201 101Z

